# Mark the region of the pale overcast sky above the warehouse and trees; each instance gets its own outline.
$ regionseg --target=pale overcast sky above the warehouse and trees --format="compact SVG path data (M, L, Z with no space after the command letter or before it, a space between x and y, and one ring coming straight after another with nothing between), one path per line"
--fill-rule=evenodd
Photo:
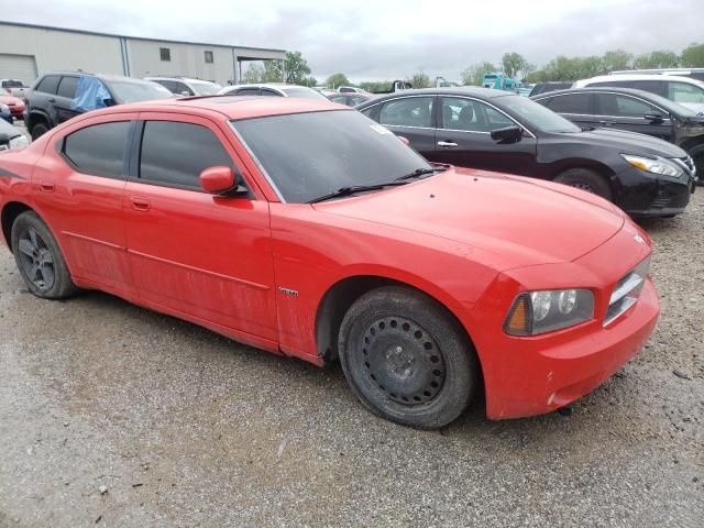
M704 42L704 0L0 0L4 20L154 38L300 51L314 75L352 81L422 69L459 80L518 52L540 67L558 54L680 52ZM1 52L1 50L0 50Z

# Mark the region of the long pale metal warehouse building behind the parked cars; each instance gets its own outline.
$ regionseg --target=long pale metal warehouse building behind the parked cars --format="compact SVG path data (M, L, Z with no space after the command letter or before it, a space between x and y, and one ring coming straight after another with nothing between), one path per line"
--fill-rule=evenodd
M226 85L240 80L242 63L283 61L285 53L0 22L0 78L21 79L28 86L53 69L129 77L180 75Z

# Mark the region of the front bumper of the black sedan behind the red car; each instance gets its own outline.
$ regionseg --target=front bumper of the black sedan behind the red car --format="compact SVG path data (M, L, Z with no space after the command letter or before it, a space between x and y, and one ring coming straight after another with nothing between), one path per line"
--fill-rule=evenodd
M694 177L659 177L629 166L615 176L615 202L631 217L666 217L684 212L696 184Z

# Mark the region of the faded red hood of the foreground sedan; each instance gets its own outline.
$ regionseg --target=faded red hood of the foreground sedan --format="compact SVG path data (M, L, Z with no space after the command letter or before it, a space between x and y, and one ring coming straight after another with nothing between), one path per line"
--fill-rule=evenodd
M312 207L490 252L499 271L573 261L625 221L619 209L588 193L470 168Z

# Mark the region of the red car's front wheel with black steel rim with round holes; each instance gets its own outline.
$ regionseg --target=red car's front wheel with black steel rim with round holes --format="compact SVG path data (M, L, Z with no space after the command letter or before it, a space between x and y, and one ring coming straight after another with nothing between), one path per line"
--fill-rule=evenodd
M479 377L460 324L433 299L400 286L360 297L342 320L338 348L360 400L405 426L447 426L469 405Z

